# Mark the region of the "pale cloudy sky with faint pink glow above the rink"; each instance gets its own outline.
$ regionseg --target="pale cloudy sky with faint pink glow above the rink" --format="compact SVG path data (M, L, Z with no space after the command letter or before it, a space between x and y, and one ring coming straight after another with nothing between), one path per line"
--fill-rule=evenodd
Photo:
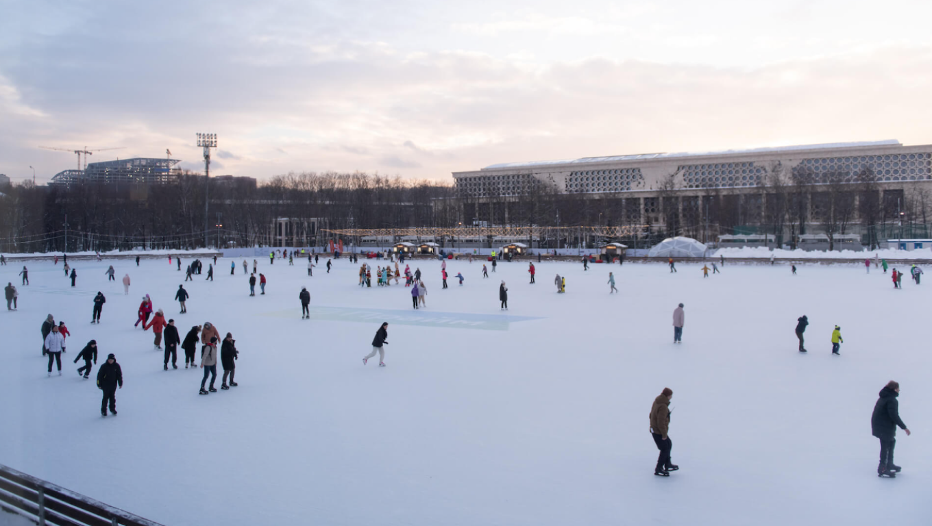
M0 173L450 182L491 164L932 143L932 3L0 0Z

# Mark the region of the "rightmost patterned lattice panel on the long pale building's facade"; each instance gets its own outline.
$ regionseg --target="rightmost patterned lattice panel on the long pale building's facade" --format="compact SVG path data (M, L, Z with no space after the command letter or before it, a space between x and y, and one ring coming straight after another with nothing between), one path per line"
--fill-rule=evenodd
M813 183L857 182L857 174L872 169L878 181L932 180L932 154L855 155L802 159L794 173L812 173Z

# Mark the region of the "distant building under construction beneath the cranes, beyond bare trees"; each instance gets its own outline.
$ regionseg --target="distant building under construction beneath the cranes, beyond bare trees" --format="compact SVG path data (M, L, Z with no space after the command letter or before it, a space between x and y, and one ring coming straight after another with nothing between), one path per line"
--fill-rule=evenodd
M55 174L49 184L68 186L80 182L96 184L166 184L181 175L179 159L133 157L117 161L89 163L87 169L66 169Z

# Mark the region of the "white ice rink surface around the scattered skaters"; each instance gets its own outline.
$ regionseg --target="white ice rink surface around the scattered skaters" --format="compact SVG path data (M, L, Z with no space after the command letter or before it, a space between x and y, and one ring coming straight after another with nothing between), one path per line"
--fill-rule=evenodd
M129 296L106 281L111 263ZM255 297L241 259L235 276L229 263L185 286L186 315L172 301L184 273L167 261L75 262L74 289L61 266L31 264L20 310L0 314L0 463L172 526L929 523L932 283L894 290L850 266L726 265L704 279L701 265L541 263L529 285L527 263L483 279L482 263L449 262L442 290L440 263L418 261L430 291L415 311L404 286L360 289L345 259L313 277L260 259ZM0 279L19 284L17 272ZM232 332L240 386L199 396L200 371L162 371L151 331L132 326L144 293L183 337L205 321ZM49 313L72 332L62 377L40 356ZM793 334L803 314L808 355ZM363 366L383 320L388 367ZM92 338L98 365L115 353L123 368L117 417L100 416L71 361ZM913 435L898 434L903 473L878 479L870 411L891 379ZM665 386L680 466L668 479L652 474L648 432Z

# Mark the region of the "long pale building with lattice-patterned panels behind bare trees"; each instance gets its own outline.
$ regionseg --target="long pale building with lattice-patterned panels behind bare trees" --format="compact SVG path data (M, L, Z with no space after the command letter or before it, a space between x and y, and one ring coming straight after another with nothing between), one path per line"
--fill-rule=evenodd
M891 222L926 223L932 145L848 142L584 157L496 164L453 177L466 222L529 221L517 217L528 208L523 203L547 196L568 211L586 210L572 219L558 210L567 224L643 225L704 241L720 234L860 234Z

